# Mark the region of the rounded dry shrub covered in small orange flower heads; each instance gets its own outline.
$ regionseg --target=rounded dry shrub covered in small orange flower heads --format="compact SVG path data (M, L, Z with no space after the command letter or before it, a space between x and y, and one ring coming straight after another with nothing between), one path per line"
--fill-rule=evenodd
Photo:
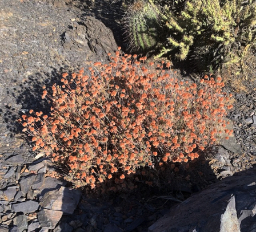
M95 63L90 74L63 74L63 85L54 84L51 96L43 91L42 98L52 104L50 116L30 111L34 116L20 120L33 150L67 165L66 178L76 186L94 188L114 173L122 183L159 157L161 162L193 160L225 129L223 117L231 105L223 83L182 82L170 68L147 66L146 58L115 55L109 64Z

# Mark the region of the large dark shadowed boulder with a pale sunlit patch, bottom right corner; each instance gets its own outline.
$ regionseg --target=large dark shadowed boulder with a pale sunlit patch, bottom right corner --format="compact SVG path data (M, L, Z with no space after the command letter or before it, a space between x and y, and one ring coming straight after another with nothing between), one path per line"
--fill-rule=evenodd
M210 185L149 227L148 232L255 232L256 167Z

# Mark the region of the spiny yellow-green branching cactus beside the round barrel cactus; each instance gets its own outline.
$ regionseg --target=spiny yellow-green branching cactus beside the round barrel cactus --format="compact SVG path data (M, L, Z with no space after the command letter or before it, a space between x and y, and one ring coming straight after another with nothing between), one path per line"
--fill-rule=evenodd
M200 71L237 63L242 68L247 50L255 47L253 0L161 1L161 4L165 4L164 13L158 13L170 36L157 58L174 52L178 60L193 59Z

